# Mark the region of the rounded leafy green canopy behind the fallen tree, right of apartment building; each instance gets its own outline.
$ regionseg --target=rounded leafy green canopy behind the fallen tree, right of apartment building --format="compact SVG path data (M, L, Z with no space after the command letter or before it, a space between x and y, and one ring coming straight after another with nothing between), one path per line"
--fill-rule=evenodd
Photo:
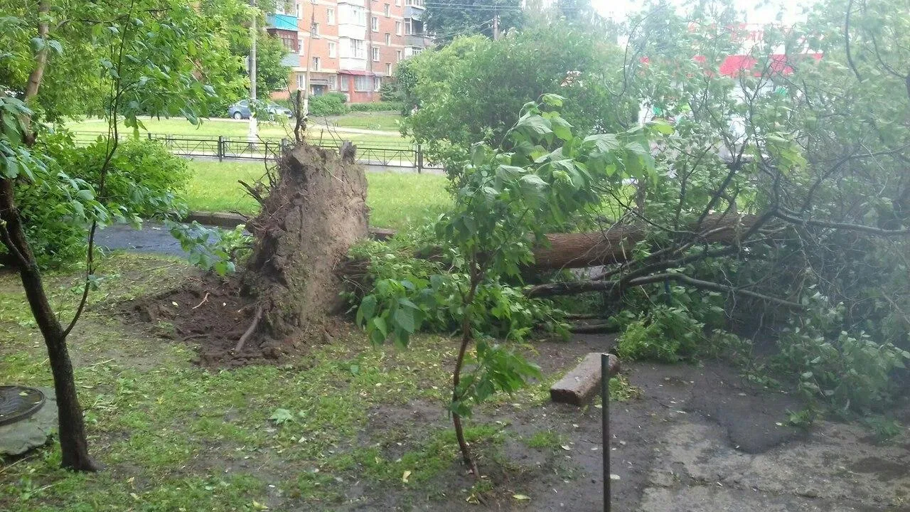
M632 119L623 108L634 111L629 98L622 103L620 90L611 88L622 77L620 49L562 21L498 41L460 37L402 62L396 77L405 107L417 107L403 131L437 160L459 148L463 154L479 140L501 143L521 106L545 92L565 97L563 117L582 130L628 126Z

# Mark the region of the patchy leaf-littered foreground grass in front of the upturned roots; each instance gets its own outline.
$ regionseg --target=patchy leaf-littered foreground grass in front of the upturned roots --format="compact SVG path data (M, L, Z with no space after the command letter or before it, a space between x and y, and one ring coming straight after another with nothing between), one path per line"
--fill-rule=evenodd
M550 412L541 423L539 413L555 373L467 422L472 450L493 475L475 483L445 413L457 351L450 338L415 335L399 350L339 327L331 343L312 344L279 365L207 369L193 364L191 345L173 340L173 326L137 323L120 309L197 271L173 259L114 253L98 275L69 346L90 450L104 470L61 470L56 443L0 461L0 510L474 510L472 503L490 497L509 505L515 494L536 499L551 486L572 492L562 482L578 474L552 439L567 439L581 420L571 413L557 424ZM52 302L75 304L80 279L78 270L47 273ZM52 385L44 343L12 272L0 274L0 328L4 382ZM521 429L511 425L517 415L524 416ZM541 434L554 428L558 435ZM543 465L528 466L516 450ZM543 490L535 495L537 487Z

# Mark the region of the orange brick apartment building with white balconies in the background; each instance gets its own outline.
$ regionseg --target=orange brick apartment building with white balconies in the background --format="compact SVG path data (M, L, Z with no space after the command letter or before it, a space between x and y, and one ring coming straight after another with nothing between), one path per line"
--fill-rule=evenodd
M423 30L424 0L293 0L268 15L268 33L291 53L290 90L342 92L352 103L379 101L396 65L431 45ZM315 19L313 29L310 22ZM309 67L309 84L306 84ZM276 93L287 97L288 92Z

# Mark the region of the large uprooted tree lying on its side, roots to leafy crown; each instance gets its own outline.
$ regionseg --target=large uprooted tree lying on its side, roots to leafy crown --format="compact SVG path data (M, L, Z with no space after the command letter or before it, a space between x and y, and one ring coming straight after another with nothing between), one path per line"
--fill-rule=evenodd
M776 340L768 363L809 396L881 410L910 359L910 69L894 40L910 30L883 32L877 15L820 6L731 67L745 35L728 5L645 12L607 87L617 108L642 100L640 124L580 133L564 98L544 94L464 148L431 234L360 244L343 264L367 232L362 175L349 155L294 148L251 188L263 211L234 355L319 328L341 279L374 343L460 333L449 409L475 476L462 419L538 374L510 342L565 333L580 302L562 295L594 292L585 316L622 331L622 356L738 350L749 328ZM565 87L585 87L571 77Z

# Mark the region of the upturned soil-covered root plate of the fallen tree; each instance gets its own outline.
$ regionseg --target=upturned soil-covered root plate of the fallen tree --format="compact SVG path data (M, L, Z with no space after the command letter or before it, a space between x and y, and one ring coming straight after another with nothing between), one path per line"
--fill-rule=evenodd
M301 144L278 160L277 181L249 222L256 245L243 292L258 312L250 333L281 342L343 306L335 268L368 236L367 179L355 150L342 146L339 157Z

